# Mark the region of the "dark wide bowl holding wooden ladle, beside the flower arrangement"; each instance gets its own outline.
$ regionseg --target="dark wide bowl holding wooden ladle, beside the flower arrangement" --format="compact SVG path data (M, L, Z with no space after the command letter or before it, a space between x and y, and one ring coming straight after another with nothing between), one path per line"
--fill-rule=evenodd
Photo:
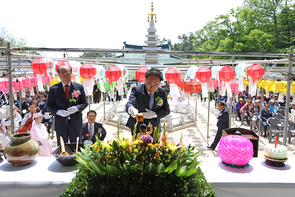
M69 154L69 156L61 156L61 148L58 146L51 155L63 166L72 166L78 164L78 162L74 159L75 156L73 152L76 152L77 143L65 143L65 152ZM78 143L78 152L81 152L80 148L84 149L84 143Z

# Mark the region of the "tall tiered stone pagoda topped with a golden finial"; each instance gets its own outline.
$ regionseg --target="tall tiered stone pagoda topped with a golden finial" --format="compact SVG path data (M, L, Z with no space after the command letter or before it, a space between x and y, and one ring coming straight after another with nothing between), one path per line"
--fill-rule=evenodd
M150 27L148 28L148 35L145 35L145 37L148 38L148 40L145 40L145 44L147 44L148 46L142 47L142 48L148 51L159 51L161 50L161 47L157 47L157 44L159 44L160 41L156 40L156 38L158 38L159 35L156 35L157 30L154 27L155 25L154 16L155 16L155 19L157 19L157 17L156 17L156 14L154 13L153 3L152 3L151 10L152 10L151 13L148 14L148 22L150 22ZM157 22L157 20L155 20L155 22ZM147 60L146 65L163 65L158 63L158 60L157 60L158 58L162 57L162 55L145 54L145 55L142 55L142 57L147 59L152 59L152 60ZM144 64L145 63L143 63L142 65Z

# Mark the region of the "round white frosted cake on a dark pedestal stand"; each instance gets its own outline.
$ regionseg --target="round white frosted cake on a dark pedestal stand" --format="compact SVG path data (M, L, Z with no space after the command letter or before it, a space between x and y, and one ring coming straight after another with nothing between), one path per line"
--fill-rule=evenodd
M274 144L266 144L264 147L264 155L270 159L285 160L287 159L288 149L286 146Z

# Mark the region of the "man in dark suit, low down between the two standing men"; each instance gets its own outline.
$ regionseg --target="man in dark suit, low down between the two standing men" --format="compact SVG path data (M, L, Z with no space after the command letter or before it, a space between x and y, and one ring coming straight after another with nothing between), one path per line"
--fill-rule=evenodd
M81 142L85 144L93 144L96 142L95 136L100 141L104 141L106 137L106 130L101 123L95 122L96 111L90 110L87 112L87 123L83 123Z

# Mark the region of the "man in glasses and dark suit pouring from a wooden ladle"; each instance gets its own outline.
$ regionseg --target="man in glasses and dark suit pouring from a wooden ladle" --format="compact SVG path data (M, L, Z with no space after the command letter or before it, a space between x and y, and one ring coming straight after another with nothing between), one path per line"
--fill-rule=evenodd
M135 115L137 113L143 114L143 122L146 125L151 123L153 130L160 124L160 119L170 113L166 90L159 87L161 80L163 80L161 71L158 69L149 69L145 72L145 83L132 87L129 101L126 104L126 111L130 114L126 126L131 129L132 135L136 123ZM156 103L155 99L157 97L163 100L163 103L160 103L160 105ZM136 133L140 133L140 125L141 123L137 124Z

